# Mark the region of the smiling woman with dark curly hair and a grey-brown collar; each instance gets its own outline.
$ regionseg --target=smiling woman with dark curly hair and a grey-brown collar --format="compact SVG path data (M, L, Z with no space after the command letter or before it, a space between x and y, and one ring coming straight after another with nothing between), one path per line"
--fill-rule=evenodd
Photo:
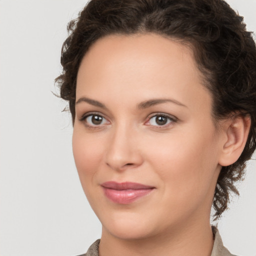
M90 255L231 255L210 226L255 150L256 48L222 0L91 0L60 95L102 223Z

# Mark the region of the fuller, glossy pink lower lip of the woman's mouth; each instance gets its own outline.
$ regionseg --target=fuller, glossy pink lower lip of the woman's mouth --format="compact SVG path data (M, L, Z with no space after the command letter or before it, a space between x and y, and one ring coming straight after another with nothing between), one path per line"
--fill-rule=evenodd
M128 204L149 194L153 188L116 190L103 187L105 196L115 203Z

